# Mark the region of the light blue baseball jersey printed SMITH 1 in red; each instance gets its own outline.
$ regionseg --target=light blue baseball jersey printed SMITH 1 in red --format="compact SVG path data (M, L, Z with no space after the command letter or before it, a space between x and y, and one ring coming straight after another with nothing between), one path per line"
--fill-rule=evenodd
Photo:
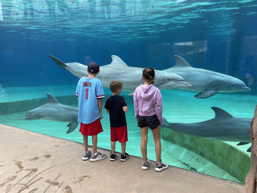
M99 79L86 76L80 78L76 96L79 103L78 122L89 124L100 118L97 99L104 98L104 88Z

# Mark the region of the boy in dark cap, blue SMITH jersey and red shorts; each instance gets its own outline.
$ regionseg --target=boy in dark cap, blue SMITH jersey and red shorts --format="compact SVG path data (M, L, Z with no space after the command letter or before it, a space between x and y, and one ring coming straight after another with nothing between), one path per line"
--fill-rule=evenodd
M89 76L80 78L76 96L79 104L78 122L80 122L79 132L83 135L84 154L82 160L95 162L105 159L106 154L97 152L97 134L103 132L100 120L103 118L102 108L104 98L104 89L102 82L96 78L100 72L99 64L91 62L87 66ZM88 136L92 136L93 154L88 151Z

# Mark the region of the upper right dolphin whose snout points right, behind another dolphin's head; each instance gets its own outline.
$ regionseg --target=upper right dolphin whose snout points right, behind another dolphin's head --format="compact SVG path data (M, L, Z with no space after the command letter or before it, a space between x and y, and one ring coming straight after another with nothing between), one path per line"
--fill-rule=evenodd
M200 92L195 95L198 99L205 99L215 95L217 92L239 92L250 91L245 83L235 77L218 72L194 68L180 56L174 55L176 65L165 69L163 72L172 72L180 75L186 82L190 82L191 87L179 89Z

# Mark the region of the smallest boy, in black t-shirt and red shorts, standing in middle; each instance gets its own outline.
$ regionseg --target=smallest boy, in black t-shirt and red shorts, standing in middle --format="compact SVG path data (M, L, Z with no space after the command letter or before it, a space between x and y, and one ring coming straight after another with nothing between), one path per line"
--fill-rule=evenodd
M112 96L110 96L105 103L104 108L106 108L107 113L110 115L110 125L111 125L111 148L110 160L114 161L116 157L115 145L116 141L121 143L121 161L126 161L129 155L125 152L126 142L128 141L127 134L127 122L125 112L128 111L127 104L121 94L123 84L120 81L112 81L110 83L110 89L112 91Z

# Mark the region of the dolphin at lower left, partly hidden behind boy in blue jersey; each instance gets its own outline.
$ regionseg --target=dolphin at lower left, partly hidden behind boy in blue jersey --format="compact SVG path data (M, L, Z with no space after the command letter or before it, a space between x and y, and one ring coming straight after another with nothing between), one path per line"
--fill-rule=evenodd
M38 120L44 119L49 121L70 122L67 127L67 134L71 133L78 126L78 108L60 104L51 94L47 93L48 102L44 105L32 109L25 117L13 118L17 120Z

